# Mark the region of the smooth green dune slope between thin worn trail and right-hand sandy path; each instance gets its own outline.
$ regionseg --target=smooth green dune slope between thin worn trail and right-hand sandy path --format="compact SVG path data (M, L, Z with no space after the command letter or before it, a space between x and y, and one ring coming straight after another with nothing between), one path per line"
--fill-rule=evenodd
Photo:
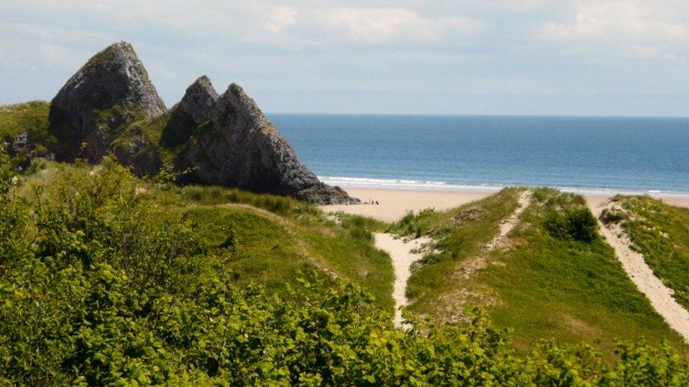
M585 209L582 197L537 190L511 235L511 247L492 253L498 264L465 282L467 290L482 294L474 301L484 301L498 326L514 330L522 350L554 337L566 343L594 341L604 348L616 339L669 340L686 351L602 238L578 240L549 229L553 211L575 209Z

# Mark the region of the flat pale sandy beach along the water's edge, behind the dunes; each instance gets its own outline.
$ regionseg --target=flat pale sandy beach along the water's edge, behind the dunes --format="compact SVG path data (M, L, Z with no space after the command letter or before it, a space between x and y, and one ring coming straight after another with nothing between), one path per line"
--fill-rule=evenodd
M344 190L349 195L361 199L361 202L377 201L379 204L335 205L321 206L321 208L325 211L344 211L347 214L371 216L371 218L386 222L398 221L409 211L420 211L429 207L443 211L495 193L494 190L485 192L385 188L344 188ZM584 194L584 197L589 207L595 208L603 204L611 195ZM689 197L660 197L659 199L673 206L689 208Z

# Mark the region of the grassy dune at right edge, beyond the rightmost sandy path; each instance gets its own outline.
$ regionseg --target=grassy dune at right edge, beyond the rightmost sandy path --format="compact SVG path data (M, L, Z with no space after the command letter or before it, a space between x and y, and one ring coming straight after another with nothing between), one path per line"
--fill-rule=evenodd
M621 223L646 263L677 302L689 308L689 209L648 196L615 198L625 213Z

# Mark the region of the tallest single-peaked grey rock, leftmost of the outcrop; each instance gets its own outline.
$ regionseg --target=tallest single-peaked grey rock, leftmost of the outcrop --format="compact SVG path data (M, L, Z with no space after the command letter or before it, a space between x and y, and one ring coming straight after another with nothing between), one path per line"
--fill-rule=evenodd
M127 42L93 56L52 100L49 130L56 159L102 159L127 125L166 110L143 64ZM82 144L85 149L82 149Z

